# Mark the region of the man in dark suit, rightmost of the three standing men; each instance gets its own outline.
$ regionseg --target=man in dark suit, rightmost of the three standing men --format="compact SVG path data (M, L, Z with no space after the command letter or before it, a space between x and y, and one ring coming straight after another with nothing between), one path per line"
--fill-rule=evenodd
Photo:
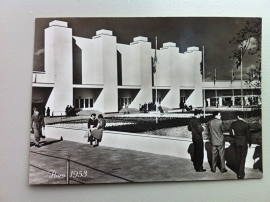
M237 178L244 179L245 163L249 148L251 147L250 127L243 118L237 113L237 121L234 121L231 126L232 135L234 135L234 152L237 164Z

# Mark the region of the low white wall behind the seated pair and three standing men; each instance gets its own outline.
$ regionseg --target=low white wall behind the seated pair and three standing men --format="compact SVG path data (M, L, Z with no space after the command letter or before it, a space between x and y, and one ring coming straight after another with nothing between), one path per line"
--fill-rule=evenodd
M49 138L60 139L62 136L63 140L89 144L87 138L84 138L84 134L87 131L86 129L63 128L47 125L45 130L46 137ZM186 159L191 159L191 156L193 155L193 144L191 139L138 133L104 131L100 146L169 155ZM253 156L261 156L261 154L255 153L256 147L259 146L252 145L251 148L248 149L246 167L253 168L255 163ZM225 148L227 166L233 167L236 165L233 146L226 143ZM211 162L211 158L211 143L205 141L204 161Z

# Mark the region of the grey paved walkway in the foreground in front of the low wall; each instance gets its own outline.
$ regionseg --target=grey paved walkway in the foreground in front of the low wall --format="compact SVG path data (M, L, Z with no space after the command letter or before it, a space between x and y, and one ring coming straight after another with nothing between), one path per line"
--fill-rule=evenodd
M40 148L30 146L30 184L66 184L67 156L73 175L70 184L236 179L229 168L224 174L218 169L212 173L208 163L204 163L206 172L197 173L190 159L49 138L41 142ZM246 169L245 179L261 177L259 170Z

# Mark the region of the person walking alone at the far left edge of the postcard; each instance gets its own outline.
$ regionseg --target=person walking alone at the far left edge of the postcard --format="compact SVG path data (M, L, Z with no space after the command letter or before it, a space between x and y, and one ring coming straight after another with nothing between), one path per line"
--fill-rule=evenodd
M39 141L40 138L45 138L45 136L42 136L42 127L43 130L45 129L45 122L44 122L44 116L40 113L40 110L38 108L34 108L34 114L31 118L31 130L34 131L35 136L35 146L40 147Z

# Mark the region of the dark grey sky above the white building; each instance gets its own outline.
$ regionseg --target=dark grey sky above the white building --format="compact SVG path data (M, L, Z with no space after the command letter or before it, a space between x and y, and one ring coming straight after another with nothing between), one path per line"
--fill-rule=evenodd
M205 50L206 79L212 80L215 69L217 79L231 79L234 69L236 79L240 79L240 70L236 69L234 61L229 59L231 51L237 49L229 41L247 20L254 21L258 18L217 18L217 17L158 17L158 18L38 18L35 27L34 69L43 69L44 58L44 29L53 20L68 22L72 28L73 36L92 38L96 31L108 29L117 37L117 43L130 44L134 37L145 36L155 48L155 37L158 38L157 48L163 43L174 42L183 53L187 47L197 46ZM254 68L257 58L245 55L243 59L243 75Z

